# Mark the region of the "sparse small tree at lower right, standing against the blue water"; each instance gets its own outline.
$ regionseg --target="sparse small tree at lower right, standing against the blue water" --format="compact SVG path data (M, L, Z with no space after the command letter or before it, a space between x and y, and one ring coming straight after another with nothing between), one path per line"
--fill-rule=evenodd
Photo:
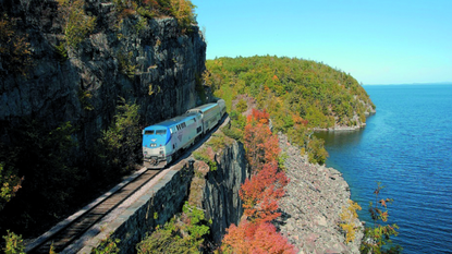
M372 227L366 227L364 238L361 245L363 253L400 253L403 249L400 245L392 244L391 237L399 234L396 229L399 226L386 225L388 221L388 204L392 203L392 198L379 198L380 191L384 186L380 182L377 183L377 189L374 191L376 202L370 202L369 213L374 220Z

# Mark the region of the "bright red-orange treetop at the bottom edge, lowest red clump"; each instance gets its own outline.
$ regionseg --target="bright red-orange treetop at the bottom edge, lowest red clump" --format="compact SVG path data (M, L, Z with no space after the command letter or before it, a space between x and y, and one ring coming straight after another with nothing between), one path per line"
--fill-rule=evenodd
M296 253L288 239L277 232L269 222L252 223L242 221L239 227L231 225L224 235L222 250L237 254L247 253Z

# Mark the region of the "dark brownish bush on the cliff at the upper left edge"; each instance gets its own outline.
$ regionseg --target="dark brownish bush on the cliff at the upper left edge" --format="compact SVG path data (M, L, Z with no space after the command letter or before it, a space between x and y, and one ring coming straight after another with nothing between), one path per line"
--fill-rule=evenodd
M0 73L2 68L11 73L27 74L32 66L32 51L27 35L21 34L7 14L0 14Z

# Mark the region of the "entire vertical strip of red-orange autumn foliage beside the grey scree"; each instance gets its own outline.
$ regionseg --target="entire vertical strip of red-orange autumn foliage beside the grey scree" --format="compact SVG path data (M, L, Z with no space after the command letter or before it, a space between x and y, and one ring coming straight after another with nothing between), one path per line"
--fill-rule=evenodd
M278 203L285 193L289 179L278 169L278 136L269 128L269 114L253 109L247 118L244 143L252 178L240 190L244 218L231 225L224 235L224 253L296 253L295 247L271 223L281 214Z

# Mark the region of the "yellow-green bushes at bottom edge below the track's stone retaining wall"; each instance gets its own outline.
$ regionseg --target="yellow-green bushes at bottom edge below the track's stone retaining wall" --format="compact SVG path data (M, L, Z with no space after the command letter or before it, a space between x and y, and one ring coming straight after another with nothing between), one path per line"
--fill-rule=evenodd
M186 202L183 213L136 245L138 253L200 253L211 221L204 211Z

